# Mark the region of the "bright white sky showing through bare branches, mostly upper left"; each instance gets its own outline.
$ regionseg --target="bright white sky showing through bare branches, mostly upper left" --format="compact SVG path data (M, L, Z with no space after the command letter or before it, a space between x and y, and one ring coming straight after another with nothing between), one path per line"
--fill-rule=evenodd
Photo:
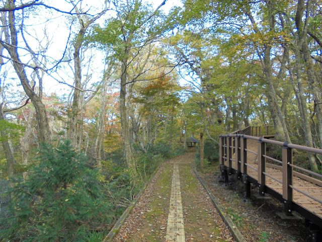
M151 4L153 6L153 9L155 9L157 6L159 6L163 0L146 0L144 1L148 4ZM72 9L72 6L68 4L64 0L55 0L55 1L45 1L45 3L49 6L53 6L57 9L60 9L62 11L69 12ZM78 6L79 7L79 6ZM88 11L89 14L97 14L101 12L104 9L104 1L102 0L83 0L82 7L84 11ZM171 0L167 1L164 6L160 10L163 10L166 13L169 13L171 8L173 7L182 7L182 3L179 0ZM26 12L29 10L26 10ZM95 23L100 24L101 26L104 25L104 21L108 19L112 14L112 11L107 12L106 15L103 15L99 20L97 20ZM73 37L75 36L75 33L77 32L77 24L71 25L72 21L74 23L77 23L76 16L69 16L64 13L59 13L54 10L48 10L41 7L35 7L30 14L28 14L28 18L24 20L25 24L25 38L28 41L28 44L33 49L39 49L41 48L41 45L45 47L46 43L48 42L48 50L46 51L45 55L49 56L48 58L48 68L54 66L55 61L59 60L66 47L66 43L68 41L68 35L70 32L70 26L72 26L71 29L71 36L69 41L72 41ZM22 41L21 36L19 36L19 41ZM21 46L24 46L22 42ZM66 56L72 56L72 49L69 47L67 48ZM94 56L92 57L91 61L91 67L90 70L83 70L82 74L86 74L87 72L92 75L92 82L99 81L103 76L104 71L104 59L105 59L105 53L99 50L91 50L92 54ZM25 63L29 62L30 54L27 53L27 51L23 49L19 49L19 53L22 56L22 60ZM51 63L52 62L52 63ZM70 66L73 66L73 63L70 63ZM28 69L28 68L27 68ZM13 72L13 70L11 70ZM31 70L29 70L29 73L31 73ZM16 75L13 74L15 77ZM44 91L47 95L50 95L51 93L55 92L57 94L63 94L63 93L69 93L70 87L67 85L63 85L58 83L55 79L66 82L70 85L73 84L73 72L72 69L66 64L66 65L60 65L60 68L54 69L52 71L52 76L54 78L51 78L49 76L44 77ZM16 82L19 83L17 78Z

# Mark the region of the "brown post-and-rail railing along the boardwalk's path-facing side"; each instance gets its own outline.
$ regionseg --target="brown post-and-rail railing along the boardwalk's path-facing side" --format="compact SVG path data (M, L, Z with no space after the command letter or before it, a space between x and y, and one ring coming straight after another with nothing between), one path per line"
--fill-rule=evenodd
M272 133L270 131L271 128L268 127L247 127L244 130L239 130L233 132L229 135L220 135L219 137L219 163L220 170L222 175L224 176L225 182L228 181L228 175L237 174L237 177L241 179L242 183L245 184L246 188L246 197L250 197L250 184L254 184L259 187L259 193L261 196L264 196L265 193L269 193L273 195L281 202L284 203L284 211L287 215L292 215L292 210L300 210L299 213L304 217L308 217L310 220L313 220L316 224L317 222L321 223L320 217L316 216L316 214L307 215L306 212L297 206L293 201L293 191L297 191L298 193L322 204L322 201L318 199L314 195L310 195L302 189L296 188L293 186L293 175L298 176L304 180L310 181L311 183L322 187L322 175L304 169L302 167L296 166L293 164L293 149L302 150L307 152L312 152L315 154L322 154L322 149L316 149L301 145L290 144L287 142L280 142L275 140L270 140L263 138L265 135L270 136ZM265 130L265 134L263 134L263 130ZM253 134L251 136L250 134ZM260 136L260 137L255 137ZM257 152L254 152L247 147L248 140L258 141ZM282 160L278 160L266 155L266 144L273 144L280 146L282 150ZM253 153L258 156L257 168L248 164L248 153ZM234 154L234 158L233 158ZM267 160L274 161L279 165L268 163ZM227 165L225 165L225 161ZM272 167L278 169L282 172L282 179L278 179L266 172L266 167ZM293 168L305 172L311 176L315 176L319 179L313 178L311 176L293 171ZM248 169L253 169L258 172L258 179L256 180L254 177L248 175ZM270 177L275 180L277 183L282 184L282 196L276 191L272 191L272 189L266 186L266 177ZM298 208L298 209L296 209ZM303 212L304 211L304 212ZM303 214L304 213L304 214Z

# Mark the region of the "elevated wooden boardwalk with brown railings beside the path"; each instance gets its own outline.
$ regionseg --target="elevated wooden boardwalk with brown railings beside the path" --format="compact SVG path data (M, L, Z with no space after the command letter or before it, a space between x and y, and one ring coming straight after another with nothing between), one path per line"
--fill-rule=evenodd
M259 187L260 196L275 197L284 204L287 216L292 216L292 211L303 216L313 231L312 237L316 238L322 230L322 175L294 165L292 150L316 154L322 154L322 150L269 140L265 138L272 135L269 129L264 129L267 130L264 135L261 130L247 127L220 135L220 170L225 181L229 175L236 174L245 184L246 197L250 197L251 184ZM282 160L267 156L266 144L280 146Z

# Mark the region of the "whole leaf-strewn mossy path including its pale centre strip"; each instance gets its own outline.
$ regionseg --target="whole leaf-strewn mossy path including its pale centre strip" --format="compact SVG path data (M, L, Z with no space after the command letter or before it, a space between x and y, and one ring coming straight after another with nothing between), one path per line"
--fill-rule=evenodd
M233 241L192 170L194 159L189 152L159 168L113 241Z

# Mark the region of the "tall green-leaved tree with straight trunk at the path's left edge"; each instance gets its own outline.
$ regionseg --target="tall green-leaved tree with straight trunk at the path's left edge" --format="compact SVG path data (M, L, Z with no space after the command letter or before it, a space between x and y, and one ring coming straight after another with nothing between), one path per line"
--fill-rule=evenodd
M144 81L142 74L150 70L143 68L129 79L129 67L138 58L139 53L149 44L159 41L159 37L170 29L169 21L162 24L163 17L159 9L165 5L164 0L154 10L141 0L113 1L116 17L107 21L107 27L97 29L95 39L111 46L121 65L120 73L120 114L122 141L128 167L135 170L135 161L131 146L132 135L129 129L129 110L126 104L128 85L136 81ZM155 77L154 79L156 79Z

